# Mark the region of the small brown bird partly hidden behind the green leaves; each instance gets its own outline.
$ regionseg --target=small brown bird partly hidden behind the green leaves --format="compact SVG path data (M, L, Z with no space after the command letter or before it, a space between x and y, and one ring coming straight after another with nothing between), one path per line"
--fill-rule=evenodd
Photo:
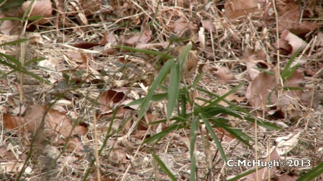
M197 52L197 46L195 44L195 36L194 32L190 29L185 30L180 38L174 38L174 36L170 36L170 44L173 44L174 46L170 48L168 51L168 54L174 57L178 61L178 57L180 53L183 51L184 47L191 43L192 48L189 50L188 55L186 57L185 62L183 63L183 66L181 68L181 75L182 79L188 79L191 77L191 75L195 72L198 64L198 52ZM137 56L142 58L146 63L150 65L156 64L156 61L158 57L154 57L152 55L147 54L138 54L138 53L131 53L131 52L123 52L128 55ZM167 58L161 59L160 64L163 65L167 60Z

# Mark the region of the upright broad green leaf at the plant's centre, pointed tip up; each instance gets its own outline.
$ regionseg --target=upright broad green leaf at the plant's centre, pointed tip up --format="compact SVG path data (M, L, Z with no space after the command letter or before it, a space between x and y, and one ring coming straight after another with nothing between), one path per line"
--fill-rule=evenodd
M168 87L168 102L167 102L167 120L170 120L178 100L178 92L181 81L181 71L179 62L173 64L170 74L170 85Z

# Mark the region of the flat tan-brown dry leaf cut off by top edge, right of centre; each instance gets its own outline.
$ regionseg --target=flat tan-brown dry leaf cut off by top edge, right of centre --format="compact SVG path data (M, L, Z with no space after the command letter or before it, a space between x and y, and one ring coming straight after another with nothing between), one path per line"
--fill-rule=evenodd
M229 0L224 5L226 17L229 19L238 18L247 13L259 11L256 0Z

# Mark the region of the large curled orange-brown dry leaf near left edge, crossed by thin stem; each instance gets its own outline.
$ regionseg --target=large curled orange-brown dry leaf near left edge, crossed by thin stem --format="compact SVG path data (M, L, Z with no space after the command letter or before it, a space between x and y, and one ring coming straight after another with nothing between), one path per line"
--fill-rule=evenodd
M21 117L21 119L19 116L4 114L4 127L8 130L19 130L20 133L35 133L35 131L39 129L44 118L44 127L40 128L40 132L35 133L37 135L40 134L46 137L63 135L64 137L67 137L69 135L85 135L87 133L87 128L84 126L77 125L73 129L72 121L64 113L49 109L45 114L45 110L45 106L30 106L26 115Z

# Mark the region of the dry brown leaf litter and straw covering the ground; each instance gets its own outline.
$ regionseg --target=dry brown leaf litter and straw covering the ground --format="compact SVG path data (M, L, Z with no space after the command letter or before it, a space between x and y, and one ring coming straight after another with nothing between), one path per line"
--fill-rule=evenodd
M319 136L322 135L320 60L323 46L321 27L318 26L322 22L318 15L322 12L318 1L306 4L286 0L276 5L265 1L78 2L36 1L30 16L43 17L30 20L26 27L12 20L3 21L0 26L1 33L6 34L1 35L1 44L17 40L17 35L26 28L26 35L30 35L26 66L51 83L43 84L35 79L37 84L27 83L20 89L19 73L10 74L12 68L0 64L1 71L9 73L0 81L0 110L5 128L1 148L6 148L1 159L5 160L2 170L7 176L19 173L26 160L24 155L29 152L31 138L37 135L37 149L31 157L34 161L25 167L23 176L36 180L54 172L55 179L79 179L96 158L96 146L101 146L105 136L109 136L96 162L101 179L141 180L149 179L151 175L169 179L162 170L156 169L151 152L162 158L179 179L188 179L191 163L189 128L166 134L158 144L141 144L168 129L168 123L163 121L167 102L153 102L147 115L139 121L136 108L127 106L129 101L144 98L147 94L157 64L152 64L152 70L148 70L144 60L119 54L120 50L113 46L128 45L162 52L160 47L168 47L171 34L180 35L185 29L192 30L197 37L200 65L187 83L196 78L197 72L203 72L198 85L221 96L245 81L245 86L226 99L247 108L263 121L287 125L284 130L274 132L228 117L232 127L257 138L261 147L256 155L228 131L214 128L216 137L227 148L227 157L273 160L286 159L288 154L288 158L309 158L313 165L318 164L317 158L321 157L323 149L323 140ZM2 17L22 18L28 3L30 5L30 1L20 5L15 14L4 7ZM279 37L276 37L276 31ZM282 84L279 76L291 55L300 48L300 54L291 65L297 63L297 69ZM21 53L20 45L1 46L0 49L19 59L16 54ZM280 50L279 57L277 50ZM46 59L34 62L39 57ZM23 99L19 97L20 90ZM157 92L164 93L160 89ZM208 100L208 95L198 91L192 94L197 105L204 102L196 98ZM49 107L55 102L64 112ZM188 109L192 108L188 106ZM96 118L98 120L94 122ZM199 129L196 138L196 153L200 153L197 154L199 179L202 180L210 170L213 173L211 180L221 180L252 169L225 165L216 154L218 148L212 139L205 143L206 129ZM98 135L97 139L95 135ZM284 140L277 141L279 138L285 143ZM13 148L12 143L17 146ZM288 153L282 155L279 149L283 143ZM209 155L213 159L206 159ZM9 167L12 163L16 166ZM39 167L46 169L36 169ZM226 170L220 172L223 167ZM249 174L246 179L266 179L262 176L271 175L295 180L308 170L274 168ZM94 171L88 178L98 179Z

